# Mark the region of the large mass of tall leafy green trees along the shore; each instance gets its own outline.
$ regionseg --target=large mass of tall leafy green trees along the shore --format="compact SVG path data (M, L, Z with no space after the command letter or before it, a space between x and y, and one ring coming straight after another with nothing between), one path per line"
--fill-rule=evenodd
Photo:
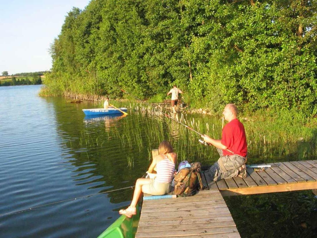
M316 0L93 0L66 16L45 90L149 98L176 83L215 112L233 102L315 115L316 10Z

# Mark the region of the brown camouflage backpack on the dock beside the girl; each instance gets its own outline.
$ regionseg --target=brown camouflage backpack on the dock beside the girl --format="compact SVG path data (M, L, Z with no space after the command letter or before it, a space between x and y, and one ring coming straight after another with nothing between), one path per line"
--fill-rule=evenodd
M183 168L175 175L175 188L173 194L186 197L197 193L198 188L203 188L200 175L201 163L191 163L190 168Z

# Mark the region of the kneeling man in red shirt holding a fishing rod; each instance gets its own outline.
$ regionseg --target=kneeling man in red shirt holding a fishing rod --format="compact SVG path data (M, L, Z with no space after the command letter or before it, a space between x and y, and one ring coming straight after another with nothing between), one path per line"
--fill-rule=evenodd
M222 130L221 140L215 140L207 135L204 141L215 146L220 158L214 163L209 174L214 181L236 176L246 177L245 163L247 161L247 140L243 124L237 119L238 110L235 104L227 104L223 116L227 123Z

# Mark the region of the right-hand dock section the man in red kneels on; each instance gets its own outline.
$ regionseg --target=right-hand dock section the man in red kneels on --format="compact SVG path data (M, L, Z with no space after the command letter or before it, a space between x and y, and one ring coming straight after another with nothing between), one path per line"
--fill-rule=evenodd
M246 178L230 178L211 181L207 172L204 176L209 188L219 189L223 196L275 193L317 188L317 160L268 163L278 167L255 172L248 168ZM265 165L265 164L259 164Z

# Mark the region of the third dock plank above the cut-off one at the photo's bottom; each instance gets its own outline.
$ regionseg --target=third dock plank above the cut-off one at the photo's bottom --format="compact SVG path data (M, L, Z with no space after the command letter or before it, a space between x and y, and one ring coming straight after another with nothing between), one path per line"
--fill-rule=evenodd
M220 216L220 217L203 217L195 219L178 219L178 220L162 220L162 221L139 221L139 228L141 227L154 227L154 226L176 226L176 225L188 225L188 224L199 224L199 223L219 223L233 221L231 215ZM141 231L139 230L138 231Z

